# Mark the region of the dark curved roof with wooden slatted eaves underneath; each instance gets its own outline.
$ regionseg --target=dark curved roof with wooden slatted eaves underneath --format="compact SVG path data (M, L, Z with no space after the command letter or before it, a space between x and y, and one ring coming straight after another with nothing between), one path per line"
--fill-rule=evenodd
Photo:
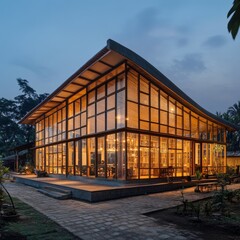
M229 130L236 129L236 126L233 124L217 117L198 105L145 59L111 39L108 39L106 47L86 62L43 102L27 113L26 116L21 119L20 123L34 124L36 119L41 117L43 114L64 102L66 98L73 96L75 93L85 88L88 84L94 82L100 76L111 71L112 68L119 65L124 60L127 60L130 64L137 67L140 71L144 72L145 75L147 74L158 85L160 85L163 90L171 93L170 95L172 95L172 97L189 107L194 112L198 113L200 116L207 117L212 119L214 122L221 123Z

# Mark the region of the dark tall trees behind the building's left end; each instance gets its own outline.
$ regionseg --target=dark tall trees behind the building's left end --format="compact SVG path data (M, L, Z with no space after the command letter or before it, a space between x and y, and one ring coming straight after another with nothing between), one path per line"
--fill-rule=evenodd
M34 141L34 127L20 125L18 121L48 94L37 94L28 81L18 78L21 94L13 100L0 98L0 155L10 155L11 149Z

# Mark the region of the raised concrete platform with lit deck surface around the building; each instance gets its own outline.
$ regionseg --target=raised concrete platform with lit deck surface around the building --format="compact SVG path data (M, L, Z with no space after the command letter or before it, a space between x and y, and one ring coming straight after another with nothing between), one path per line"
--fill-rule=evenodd
M171 183L134 185L122 184L121 186L107 186L53 177L37 178L36 176L15 175L14 178L18 183L23 183L35 188L57 187L66 191L71 191L72 198L91 203L144 194L172 191L196 185L195 181L178 181Z

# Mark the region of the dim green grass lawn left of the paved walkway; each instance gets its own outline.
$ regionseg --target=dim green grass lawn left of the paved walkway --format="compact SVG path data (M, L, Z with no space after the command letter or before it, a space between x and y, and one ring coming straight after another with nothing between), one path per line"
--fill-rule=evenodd
M15 221L0 219L1 240L79 239L26 203L13 200L20 217Z

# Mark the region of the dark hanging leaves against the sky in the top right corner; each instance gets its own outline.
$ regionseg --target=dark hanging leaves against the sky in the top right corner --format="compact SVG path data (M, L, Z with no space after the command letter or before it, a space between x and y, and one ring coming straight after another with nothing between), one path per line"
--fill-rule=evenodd
M234 0L227 17L231 17L228 22L228 31L232 34L232 38L235 39L240 27L240 0Z

